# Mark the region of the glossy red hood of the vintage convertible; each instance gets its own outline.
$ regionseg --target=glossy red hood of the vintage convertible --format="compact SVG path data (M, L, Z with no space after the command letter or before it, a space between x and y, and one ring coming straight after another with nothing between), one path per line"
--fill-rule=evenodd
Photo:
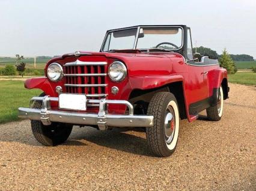
M181 54L168 53L103 53L78 51L76 53L64 54L50 60L69 60L70 57L85 59L85 57L103 56L107 60L120 60L127 66L129 76L136 75L169 75L172 72L172 58L182 57ZM49 62L49 63L50 63Z

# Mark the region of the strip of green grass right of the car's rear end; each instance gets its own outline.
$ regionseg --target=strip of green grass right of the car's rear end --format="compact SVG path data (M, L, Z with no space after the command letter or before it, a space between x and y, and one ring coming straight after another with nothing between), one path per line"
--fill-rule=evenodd
M228 82L256 86L256 73L237 72L228 75Z

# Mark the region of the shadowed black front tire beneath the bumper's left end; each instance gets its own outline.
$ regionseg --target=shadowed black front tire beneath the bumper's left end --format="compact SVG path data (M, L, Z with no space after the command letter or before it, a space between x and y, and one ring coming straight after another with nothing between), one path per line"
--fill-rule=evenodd
M44 96L44 93L40 96ZM32 108L41 108L41 101L34 101ZM39 120L31 120L31 129L35 139L46 146L59 145L67 141L72 128L73 125L66 123L52 123L45 126Z

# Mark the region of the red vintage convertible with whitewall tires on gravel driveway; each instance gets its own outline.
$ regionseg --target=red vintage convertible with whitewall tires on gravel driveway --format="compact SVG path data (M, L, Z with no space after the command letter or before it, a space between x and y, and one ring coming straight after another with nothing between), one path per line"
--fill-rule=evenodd
M192 122L206 110L209 120L220 120L229 92L226 69L192 53L185 25L109 30L99 52L55 57L45 77L25 87L43 91L19 108L41 144L64 143L73 125L143 127L151 151L163 157L177 146L180 119Z

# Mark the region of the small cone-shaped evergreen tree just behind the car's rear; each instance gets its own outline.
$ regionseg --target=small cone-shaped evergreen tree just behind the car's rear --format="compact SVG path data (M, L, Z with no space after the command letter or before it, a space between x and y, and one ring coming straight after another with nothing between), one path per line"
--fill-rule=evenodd
M221 63L221 66L223 68L227 69L228 74L236 73L237 69L236 69L234 60L228 54L228 51L226 50L226 48L224 48L224 50L222 51L219 62Z

